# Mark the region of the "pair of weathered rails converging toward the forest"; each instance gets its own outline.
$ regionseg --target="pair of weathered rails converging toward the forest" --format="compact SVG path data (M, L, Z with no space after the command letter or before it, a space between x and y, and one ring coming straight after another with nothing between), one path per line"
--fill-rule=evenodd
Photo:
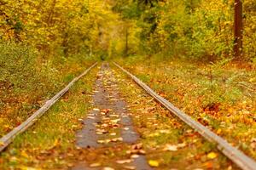
M201 125L201 123L196 122L193 120L190 116L183 113L183 111L180 111L172 105L169 101L162 98L160 95L156 94L154 90L149 88L145 83L141 82L137 77L133 76L129 71L126 71L123 67L118 65L117 63L113 63L116 65L121 71L124 71L131 79L137 83L143 90L147 92L150 96L152 96L156 101L158 101L161 105L166 107L168 111L170 111L172 114L177 116L179 119L181 119L184 123L188 124L189 127L192 127L195 129L196 132L200 133L201 136L205 139L207 139L210 142L213 142L217 144L218 150L224 154L224 156L227 156L231 161L236 163L238 167L244 170L254 170L256 169L256 162L250 158L249 156L246 156L243 154L240 150L237 150L235 147L231 146L226 140L219 137L217 134L212 133L211 130L209 130L207 127L204 127ZM49 110L49 108L55 104L55 102L61 98L63 94L65 94L69 88L73 86L73 83L77 82L81 77L84 77L93 67L96 66L96 63L94 65L91 65L89 69L84 71L79 77L76 77L73 79L72 82L70 82L66 88L63 88L58 94L56 94L52 99L49 99L43 105L38 111L36 111L32 116L30 116L26 122L23 122L20 124L20 126L15 127L10 133L3 136L3 138L0 139L0 152L2 152L14 139L15 137L26 131L28 127L31 127L34 122L37 122L38 118L42 116L46 111Z

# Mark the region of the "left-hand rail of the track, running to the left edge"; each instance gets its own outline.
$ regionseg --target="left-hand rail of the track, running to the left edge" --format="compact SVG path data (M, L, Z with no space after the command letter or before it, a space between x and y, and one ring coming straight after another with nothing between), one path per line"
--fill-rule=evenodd
M97 63L94 65L91 65L86 71L84 71L79 77L75 77L73 81L69 82L65 88L63 88L58 94L55 94L55 96L48 101L35 113L32 114L32 116L28 117L25 122L22 122L18 127L15 127L12 131L4 135L0 139L0 153L15 139L15 137L26 131L28 127L31 127L32 124L38 121L38 118L42 116L46 111L49 110L49 108L55 104L58 99L61 98L64 94L67 93L67 91L73 86L73 84L81 77L84 77L93 67L95 67Z

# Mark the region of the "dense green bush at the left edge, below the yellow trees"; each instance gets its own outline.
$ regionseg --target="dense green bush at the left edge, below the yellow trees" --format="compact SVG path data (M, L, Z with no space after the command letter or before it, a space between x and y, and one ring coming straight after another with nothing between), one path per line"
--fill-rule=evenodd
M40 84L36 69L37 51L15 42L0 42L0 83L2 90L15 94L34 90Z

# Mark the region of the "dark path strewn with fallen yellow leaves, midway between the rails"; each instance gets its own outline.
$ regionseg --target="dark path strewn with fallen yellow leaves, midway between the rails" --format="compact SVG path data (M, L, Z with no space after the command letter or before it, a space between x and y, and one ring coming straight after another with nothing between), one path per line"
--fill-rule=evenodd
M139 134L132 125L124 99L119 97L115 77L107 63L102 64L97 75L93 105L95 108L77 134L77 146L86 150L87 156L73 169L153 169L148 166L142 144L137 143Z

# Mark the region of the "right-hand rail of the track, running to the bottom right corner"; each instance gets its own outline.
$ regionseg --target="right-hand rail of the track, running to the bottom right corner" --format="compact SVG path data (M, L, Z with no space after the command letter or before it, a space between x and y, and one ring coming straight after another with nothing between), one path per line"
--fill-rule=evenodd
M133 76L129 71L126 71L123 67L117 63L113 63L120 70L124 71L131 79L136 82L141 88L143 88L148 94L150 94L154 99L160 102L161 105L165 106L167 110L171 111L174 115L180 118L183 122L188 124L190 127L194 128L202 137L206 138L210 142L217 144L218 150L220 150L225 156L230 158L231 161L236 163L238 167L241 167L243 170L256 170L256 162L246 156L241 150L236 149L231 146L225 139L219 137L217 134L213 133L207 127L203 126L200 122L196 122L190 116L185 114L183 111L180 111L172 105L171 102L162 98L160 95L156 94L154 90L149 88L144 82L140 81L137 77Z

